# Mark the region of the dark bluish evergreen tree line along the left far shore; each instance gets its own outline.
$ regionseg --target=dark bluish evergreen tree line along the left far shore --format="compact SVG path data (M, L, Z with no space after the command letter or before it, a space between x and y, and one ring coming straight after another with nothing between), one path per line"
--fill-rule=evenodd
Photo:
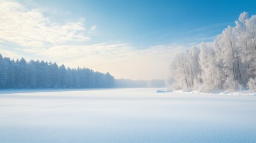
M115 78L87 68L47 61L11 60L0 54L0 88L113 88Z

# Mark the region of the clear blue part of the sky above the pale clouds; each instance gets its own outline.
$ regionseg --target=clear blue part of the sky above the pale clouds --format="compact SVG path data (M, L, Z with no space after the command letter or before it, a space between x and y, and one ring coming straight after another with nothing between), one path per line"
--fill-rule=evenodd
M212 41L243 11L256 14L256 1L35 1L52 10L70 11L96 24L95 42L120 41L144 47ZM59 17L65 20L67 17Z

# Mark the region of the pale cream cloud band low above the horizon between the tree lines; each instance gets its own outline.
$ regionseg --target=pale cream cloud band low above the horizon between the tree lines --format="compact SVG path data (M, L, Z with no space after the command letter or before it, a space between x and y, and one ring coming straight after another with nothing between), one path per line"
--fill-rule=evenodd
M90 67L110 72L115 77L131 79L158 79L169 76L169 64L175 53L192 45L156 45L134 49L127 43L99 43L79 46L53 46L38 53L70 67ZM58 51L56 53L55 51Z

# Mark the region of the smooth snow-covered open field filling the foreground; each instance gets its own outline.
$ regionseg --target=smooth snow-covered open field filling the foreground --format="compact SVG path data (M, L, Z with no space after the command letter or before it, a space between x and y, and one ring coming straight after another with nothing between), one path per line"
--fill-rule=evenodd
M256 96L0 91L0 142L256 142Z

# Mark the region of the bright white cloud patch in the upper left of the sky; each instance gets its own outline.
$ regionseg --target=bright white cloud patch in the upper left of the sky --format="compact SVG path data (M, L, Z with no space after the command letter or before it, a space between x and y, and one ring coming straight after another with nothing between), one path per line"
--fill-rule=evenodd
M55 23L37 9L16 1L0 2L0 39L26 47L40 47L70 41L87 41L84 18L76 22Z

